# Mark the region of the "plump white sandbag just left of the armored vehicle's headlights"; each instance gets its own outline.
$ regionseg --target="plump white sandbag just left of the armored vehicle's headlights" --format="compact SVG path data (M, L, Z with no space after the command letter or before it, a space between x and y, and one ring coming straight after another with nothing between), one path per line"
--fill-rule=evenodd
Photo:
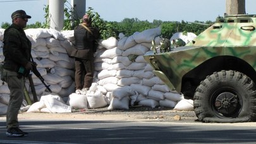
M128 55L144 55L147 51L149 51L149 48L143 46L143 45L135 45L131 48L128 48L125 50L122 55L123 56L128 56Z

